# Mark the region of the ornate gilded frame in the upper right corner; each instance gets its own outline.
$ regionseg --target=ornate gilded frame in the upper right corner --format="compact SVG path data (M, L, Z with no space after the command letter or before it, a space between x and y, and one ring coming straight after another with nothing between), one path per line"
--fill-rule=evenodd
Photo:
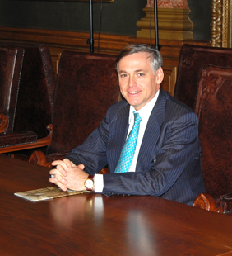
M211 46L232 47L232 0L211 0Z

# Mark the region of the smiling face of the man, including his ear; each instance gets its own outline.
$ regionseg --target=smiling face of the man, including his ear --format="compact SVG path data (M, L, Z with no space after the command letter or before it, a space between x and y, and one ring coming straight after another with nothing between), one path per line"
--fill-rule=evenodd
M138 111L155 97L164 73L160 68L154 74L150 55L142 52L128 55L119 61L118 78L123 97Z

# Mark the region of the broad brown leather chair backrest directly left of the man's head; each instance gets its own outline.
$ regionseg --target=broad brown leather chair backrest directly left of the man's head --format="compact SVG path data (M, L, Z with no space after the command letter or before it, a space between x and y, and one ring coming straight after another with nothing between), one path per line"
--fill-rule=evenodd
M48 154L81 145L119 99L116 56L64 51L53 101L53 138Z

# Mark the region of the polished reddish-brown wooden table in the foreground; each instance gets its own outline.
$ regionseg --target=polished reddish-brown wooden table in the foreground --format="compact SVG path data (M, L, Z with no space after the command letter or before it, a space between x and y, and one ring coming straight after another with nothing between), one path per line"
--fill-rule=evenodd
M0 255L232 255L232 219L156 197L31 202L49 169L0 156Z

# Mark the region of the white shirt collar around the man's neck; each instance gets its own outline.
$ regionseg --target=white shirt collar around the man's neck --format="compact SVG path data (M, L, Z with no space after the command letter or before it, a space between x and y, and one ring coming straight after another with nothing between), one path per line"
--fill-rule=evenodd
M144 107L142 107L139 111L136 111L134 107L130 106L130 112L129 112L129 124L134 121L134 115L133 112L139 113L139 116L142 118L142 121L148 121L151 111L153 107L155 106L155 103L157 101L157 98L159 97L160 90L156 92L155 97L151 99L150 102L146 103Z

